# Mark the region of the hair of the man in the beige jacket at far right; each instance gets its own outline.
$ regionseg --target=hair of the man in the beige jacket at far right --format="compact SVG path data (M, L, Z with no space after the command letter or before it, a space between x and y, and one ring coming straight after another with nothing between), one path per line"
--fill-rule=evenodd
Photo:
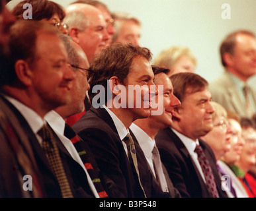
M232 32L231 34L228 34L228 36L226 36L226 38L222 41L222 44L220 45L220 56L222 59L222 65L224 67L226 67L226 62L224 61L223 55L224 53L234 53L235 40L237 35L239 34L245 34L255 38L255 34L247 30L237 30L235 32Z

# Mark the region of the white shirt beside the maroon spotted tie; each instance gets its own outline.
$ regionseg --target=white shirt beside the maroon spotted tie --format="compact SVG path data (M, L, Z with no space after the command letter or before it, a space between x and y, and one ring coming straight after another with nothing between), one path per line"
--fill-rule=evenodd
M196 167L197 167L197 169L198 169L198 171L199 171L200 175L202 176L202 179L204 180L204 183L205 183L206 180L204 178L204 173L202 172L202 167L200 166L200 163L198 161L197 153L194 152L194 150L196 148L196 144L199 145L198 139L196 139L196 141L194 141L191 138L188 138L187 136L179 133L178 131L176 131L173 128L171 128L171 130L179 137L179 139L181 139L181 141L183 142L183 144L185 145L185 147L189 151L189 154L191 155L191 158L192 158L194 164L196 164Z

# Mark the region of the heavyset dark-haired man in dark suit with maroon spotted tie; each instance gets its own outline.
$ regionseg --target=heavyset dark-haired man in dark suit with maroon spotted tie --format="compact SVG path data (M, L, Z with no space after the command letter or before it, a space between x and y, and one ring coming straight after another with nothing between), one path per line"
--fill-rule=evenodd
M159 131L155 141L161 160L165 165L174 187L183 197L225 197L221 189L216 160L210 147L199 139L212 130L211 95L208 82L194 73L179 73L171 76L174 94L181 101L181 107L173 111L171 127ZM196 148L202 148L208 172L213 178L208 180L201 167ZM209 189L208 186L214 187ZM214 191L212 191L214 190ZM212 192L211 192L212 191Z

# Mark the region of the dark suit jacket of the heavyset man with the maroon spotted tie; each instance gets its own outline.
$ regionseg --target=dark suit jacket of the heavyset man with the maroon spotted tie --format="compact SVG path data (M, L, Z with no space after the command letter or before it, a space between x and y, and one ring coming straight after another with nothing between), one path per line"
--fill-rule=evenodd
M197 169L189 151L175 133L168 127L159 131L155 136L161 160L165 165L173 185L182 197L210 198L210 193ZM216 167L215 156L210 146L199 140L206 158L210 162L220 197L226 198L226 193L221 189L221 181Z

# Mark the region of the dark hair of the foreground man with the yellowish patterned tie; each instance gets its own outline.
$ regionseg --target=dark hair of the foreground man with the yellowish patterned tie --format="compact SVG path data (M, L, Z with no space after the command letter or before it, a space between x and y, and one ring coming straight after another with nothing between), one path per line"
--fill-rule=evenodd
M19 59L27 60L28 64L32 64L36 56L36 38L40 31L49 34L60 32L55 30L50 24L38 22L35 20L17 20L10 30L8 68L1 70L0 86L5 84L15 84L17 75L15 73L15 63Z

